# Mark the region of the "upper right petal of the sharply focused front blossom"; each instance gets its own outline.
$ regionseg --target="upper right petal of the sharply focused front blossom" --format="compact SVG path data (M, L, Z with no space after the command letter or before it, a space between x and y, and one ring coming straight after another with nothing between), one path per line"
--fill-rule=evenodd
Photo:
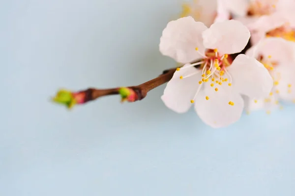
M228 20L214 23L203 32L204 46L218 49L221 54L233 54L242 51L250 38L250 31L239 21Z

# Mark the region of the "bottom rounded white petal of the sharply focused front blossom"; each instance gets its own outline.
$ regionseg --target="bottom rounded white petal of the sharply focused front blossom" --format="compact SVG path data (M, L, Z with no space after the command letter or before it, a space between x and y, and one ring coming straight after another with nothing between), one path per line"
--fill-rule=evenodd
M218 86L217 92L214 88L206 83L205 89L198 94L195 103L197 114L204 123L214 128L235 123L241 117L244 107L243 99L227 85ZM230 105L230 101L235 105Z

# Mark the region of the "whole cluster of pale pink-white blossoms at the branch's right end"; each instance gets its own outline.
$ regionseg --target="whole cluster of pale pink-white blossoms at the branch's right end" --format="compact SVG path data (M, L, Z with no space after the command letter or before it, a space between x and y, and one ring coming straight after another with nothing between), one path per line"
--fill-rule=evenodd
M194 105L214 128L243 110L295 102L295 0L195 0L163 30L159 49L183 66L161 97L184 113Z

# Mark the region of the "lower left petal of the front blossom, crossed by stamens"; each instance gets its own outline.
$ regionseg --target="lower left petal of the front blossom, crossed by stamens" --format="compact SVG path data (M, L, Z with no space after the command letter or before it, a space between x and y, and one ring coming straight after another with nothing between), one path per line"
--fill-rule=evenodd
M185 77L196 72L199 73L190 77ZM177 113L186 112L192 105L190 101L194 98L197 92L199 87L198 82L202 78L201 74L202 72L194 67L176 71L172 79L167 83L164 94L161 97L165 105ZM183 79L180 79L180 76L183 76Z

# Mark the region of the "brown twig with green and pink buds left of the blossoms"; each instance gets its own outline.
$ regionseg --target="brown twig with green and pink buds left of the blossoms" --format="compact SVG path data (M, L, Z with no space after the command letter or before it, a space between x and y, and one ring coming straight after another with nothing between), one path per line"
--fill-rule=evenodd
M67 90L60 90L53 100L57 103L64 104L71 108L75 104L84 104L109 95L120 95L121 101L134 102L145 98L148 92L166 82L168 82L177 68L165 70L158 77L151 79L145 83L137 86L118 87L112 89L95 89L89 88L79 92L70 92Z

